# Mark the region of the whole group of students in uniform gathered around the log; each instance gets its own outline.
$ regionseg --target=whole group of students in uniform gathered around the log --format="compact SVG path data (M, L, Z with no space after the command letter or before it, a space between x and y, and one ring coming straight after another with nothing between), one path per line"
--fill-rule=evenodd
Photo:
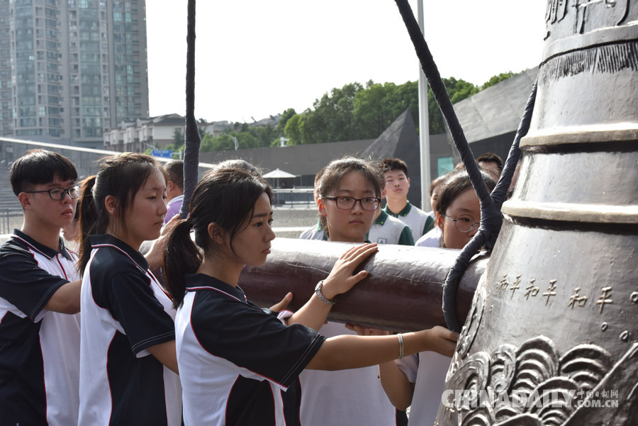
M437 179L425 213L401 160L328 164L303 237L356 245L295 313L291 294L265 309L237 286L275 237L272 191L246 162L207 172L189 218L167 225L167 189L179 197L183 183L146 155L103 159L80 183L68 159L32 150L10 176L24 221L0 247L0 426L396 425L413 399L410 425L434 422L456 333L326 318L380 245L432 230L438 247L469 241L480 208L466 172Z

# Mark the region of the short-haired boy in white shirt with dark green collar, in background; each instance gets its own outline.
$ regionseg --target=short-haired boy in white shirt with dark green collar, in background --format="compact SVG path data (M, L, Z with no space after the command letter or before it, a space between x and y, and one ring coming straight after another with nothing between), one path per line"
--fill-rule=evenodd
M416 241L421 235L434 228L435 221L425 211L408 201L410 178L408 178L407 164L398 158L386 158L381 161L380 166L386 178L386 200L388 200L384 211L408 225Z

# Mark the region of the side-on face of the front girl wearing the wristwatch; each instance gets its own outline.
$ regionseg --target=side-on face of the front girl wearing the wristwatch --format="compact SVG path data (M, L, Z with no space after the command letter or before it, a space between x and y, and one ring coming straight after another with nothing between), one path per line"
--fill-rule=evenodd
M265 192L254 203L254 212L246 228L233 238L234 258L241 264L259 267L266 262L270 253L270 243L274 240L272 231L272 207L270 198ZM233 259L230 248L230 237L225 236L228 258Z

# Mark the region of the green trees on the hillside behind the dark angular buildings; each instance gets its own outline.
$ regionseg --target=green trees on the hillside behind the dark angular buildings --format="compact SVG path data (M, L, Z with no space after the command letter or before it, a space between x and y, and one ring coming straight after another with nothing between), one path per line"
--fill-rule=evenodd
M457 103L513 75L515 74L512 72L498 74L480 87L454 77L444 78L443 84L450 101ZM281 113L276 128L250 127L248 123L234 123L233 129L228 130L228 134L214 138L212 135L203 133L201 128L201 150L203 152L234 150L235 143L229 135L237 138L240 150L279 147L279 138L282 136L289 139L286 145L374 139L381 135L406 108L410 108L418 130L418 82L379 84L370 80L366 82L365 88L362 84L350 83L341 89L332 89L320 99L315 99L313 108L303 113L296 113L293 108L286 109ZM444 133L445 123L429 86L427 109L430 133ZM176 129L173 136L177 150L183 150L184 135L181 129Z

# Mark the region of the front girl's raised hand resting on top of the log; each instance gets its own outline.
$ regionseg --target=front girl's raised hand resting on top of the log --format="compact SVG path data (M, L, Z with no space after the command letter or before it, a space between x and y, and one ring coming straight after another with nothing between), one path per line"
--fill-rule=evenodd
M330 275L323 281L323 296L332 300L337 294L345 293L359 281L368 276L367 271L359 271L352 275L361 262L367 259L370 254L379 250L376 242L373 244L363 244L356 247L350 247L342 254L335 266L332 267Z

